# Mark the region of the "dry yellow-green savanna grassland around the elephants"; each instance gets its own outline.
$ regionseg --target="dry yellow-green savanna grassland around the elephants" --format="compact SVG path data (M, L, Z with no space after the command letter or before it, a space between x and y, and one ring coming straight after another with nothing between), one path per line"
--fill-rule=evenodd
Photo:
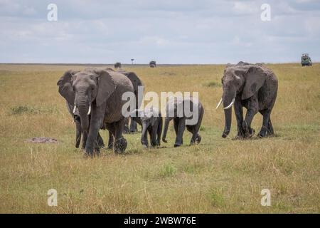
M272 112L276 135L221 138L222 65L124 66L142 78L146 91L198 91L205 108L202 142L143 149L140 135L125 135L124 155L102 150L84 158L75 125L56 82L68 69L85 66L0 65L0 212L35 213L304 213L320 212L320 64L268 65L279 78ZM253 120L255 132L262 118ZM45 136L58 143L26 140ZM107 132L102 131L107 141ZM58 191L48 207L47 191ZM262 189L271 206L262 207Z

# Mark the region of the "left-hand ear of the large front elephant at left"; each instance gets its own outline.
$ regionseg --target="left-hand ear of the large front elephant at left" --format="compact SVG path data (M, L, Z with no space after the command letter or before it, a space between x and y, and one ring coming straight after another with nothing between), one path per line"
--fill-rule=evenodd
M68 103L75 103L75 92L73 91L73 75L79 71L66 71L59 79L57 86L59 86L60 95L68 101Z

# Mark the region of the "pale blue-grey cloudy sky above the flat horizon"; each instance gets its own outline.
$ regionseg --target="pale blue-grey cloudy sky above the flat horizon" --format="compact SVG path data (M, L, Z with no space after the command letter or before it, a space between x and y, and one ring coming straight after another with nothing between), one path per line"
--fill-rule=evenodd
M0 0L0 28L0 63L320 61L320 0Z

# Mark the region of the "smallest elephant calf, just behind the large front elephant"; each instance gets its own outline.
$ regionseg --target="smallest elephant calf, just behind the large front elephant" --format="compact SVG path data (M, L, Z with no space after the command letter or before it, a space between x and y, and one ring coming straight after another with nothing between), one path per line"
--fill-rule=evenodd
M160 145L161 131L162 131L162 117L161 113L156 108L145 110L134 110L131 113L131 118L142 126L141 143L143 147L148 147L148 131L151 141L151 147Z

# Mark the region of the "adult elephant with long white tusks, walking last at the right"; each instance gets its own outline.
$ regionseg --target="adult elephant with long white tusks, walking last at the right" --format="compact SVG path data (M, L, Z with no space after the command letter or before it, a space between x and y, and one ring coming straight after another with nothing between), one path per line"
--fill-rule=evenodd
M222 84L223 95L217 108L223 101L225 111L223 138L230 133L233 105L237 118L238 138L249 138L254 133L251 122L257 112L263 115L259 136L274 134L270 115L277 98L278 80L270 69L260 63L228 64L225 67ZM243 119L242 107L247 108L245 119Z

